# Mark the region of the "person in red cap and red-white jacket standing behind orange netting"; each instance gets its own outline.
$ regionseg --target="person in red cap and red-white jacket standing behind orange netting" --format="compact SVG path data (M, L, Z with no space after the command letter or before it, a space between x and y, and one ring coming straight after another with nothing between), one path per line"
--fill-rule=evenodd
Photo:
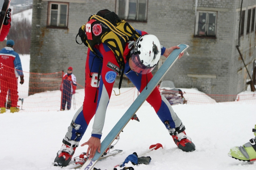
M76 93L76 76L72 73L73 68L68 67L67 73L63 76L63 81L60 86L62 91L62 111L70 110L72 94ZM67 106L66 106L67 104Z

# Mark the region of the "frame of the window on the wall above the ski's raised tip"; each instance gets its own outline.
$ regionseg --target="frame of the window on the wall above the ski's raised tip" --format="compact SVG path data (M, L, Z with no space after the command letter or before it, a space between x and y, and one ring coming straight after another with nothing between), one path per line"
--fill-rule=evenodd
M209 21L209 13L210 14L213 14L215 13L216 14L216 18L215 18L215 31L214 31L214 36L213 35L199 35L198 34L198 20L199 20L199 13L207 13L207 16L206 16L206 30L208 29L208 21ZM206 11L206 10L197 10L196 11L196 21L195 21L195 29L194 29L194 37L201 37L201 38L216 38L217 37L217 17L218 17L218 11Z

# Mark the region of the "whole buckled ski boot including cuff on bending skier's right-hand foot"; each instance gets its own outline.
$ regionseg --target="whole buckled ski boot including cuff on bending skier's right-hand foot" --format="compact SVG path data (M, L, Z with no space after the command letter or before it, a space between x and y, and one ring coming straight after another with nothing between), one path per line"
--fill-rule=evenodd
M178 148L185 152L191 152L196 150L196 146L191 141L191 138L186 135L186 128L182 123L179 127L176 128L171 128L169 125L169 121L165 121L164 124L167 127L170 135L173 138L173 141L178 146Z

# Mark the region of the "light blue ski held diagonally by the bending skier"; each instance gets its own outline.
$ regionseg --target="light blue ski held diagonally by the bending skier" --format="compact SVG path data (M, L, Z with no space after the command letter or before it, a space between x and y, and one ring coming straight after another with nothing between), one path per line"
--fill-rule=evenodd
M102 154L106 151L107 148L111 145L111 143L115 140L118 134L123 130L126 124L131 120L133 115L138 111L141 105L145 102L147 97L151 94L151 92L155 89L155 87L159 84L163 76L167 73L167 71L172 67L175 61L178 59L178 56L181 52L184 52L189 46L185 44L178 45L180 49L174 49L172 53L167 57L162 66L157 70L156 74L147 84L147 89L144 88L141 94L134 100L133 104L128 108L122 118L117 122L117 124L113 127L113 129L109 132L109 134L104 138L101 143L100 153L96 152L94 157L91 160L87 160L81 170L91 170L96 162L100 159Z

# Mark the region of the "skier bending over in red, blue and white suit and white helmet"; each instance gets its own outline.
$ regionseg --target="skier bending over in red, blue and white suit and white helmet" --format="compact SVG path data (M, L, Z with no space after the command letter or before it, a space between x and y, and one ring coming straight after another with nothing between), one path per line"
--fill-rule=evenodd
M110 13L108 10L99 11L96 14L97 16L95 15L90 17L91 20L89 20L89 22L92 22L93 17L103 16L104 18L104 16L106 17L110 14L113 14L113 12ZM117 16L115 13L113 15L115 17ZM97 19L97 22L99 22L99 19L100 18ZM89 32L92 34L92 40L94 37L103 35L104 28L109 28L109 25L106 26L102 23L97 24L97 22L94 25L88 25L88 27L90 26L91 28ZM123 22L125 21L122 21L122 23ZM88 27L86 27L87 31ZM98 27L100 30L96 31L96 29L93 29L93 27ZM101 34L99 34L100 32ZM146 32L136 29L134 29L134 32L136 32L136 35L138 35L136 41L126 41L124 45L125 48L115 46L115 50L113 50L117 51L119 49L123 49L123 70L120 69L121 66L118 63L120 60L117 59L117 54L114 54L112 51L111 48L113 48L113 46L108 43L108 39L105 41L104 38L100 39L105 43L95 43L93 48L89 44L91 48L88 48L87 51L84 103L83 106L81 106L81 108L79 108L75 113L70 127L68 127L68 132L62 141L62 147L60 151L58 151L54 160L55 166L68 165L76 150L76 147L79 145L79 141L83 137L84 132L86 131L89 122L94 115L95 118L92 126L91 138L81 146L88 145L86 156L89 155L89 159L94 157L96 151L100 153L100 138L102 137L106 109L110 100L113 84L118 73L124 71L125 75L132 81L138 91L142 92L144 87L146 87L147 83L153 77L151 71L159 61L160 55L168 57L174 49L179 49L178 46L161 48L160 42L156 36L147 35ZM111 37L113 37L113 34L111 35ZM90 34L88 32L86 32L86 36L86 41L90 42ZM81 37L81 39L83 40L84 37ZM113 38L111 40L113 40ZM120 41L120 38L117 38L116 41ZM155 60L153 60L154 56L149 56L149 51L152 49L152 41L154 41L156 46L161 49L161 53L159 52L159 54L157 54ZM88 45L87 43L85 44ZM179 58L181 56L183 56L183 53L179 55ZM100 73L100 80L98 73ZM98 77L98 79L96 77ZM97 82L97 80L99 80L99 82ZM147 102L152 105L157 113L157 116L167 128L178 148L186 152L194 151L195 145L193 142L191 142L191 138L186 135L185 126L182 124L177 114L173 111L170 103L167 101L167 99L165 99L164 96L162 96L157 87L149 95Z

